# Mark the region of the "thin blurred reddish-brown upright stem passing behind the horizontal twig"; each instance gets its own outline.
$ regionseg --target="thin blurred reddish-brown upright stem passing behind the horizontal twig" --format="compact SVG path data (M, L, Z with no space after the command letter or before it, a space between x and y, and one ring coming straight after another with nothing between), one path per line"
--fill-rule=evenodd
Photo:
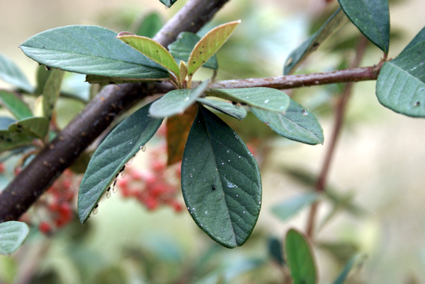
M360 65L361 59L363 59L363 55L365 53L365 47L368 43L366 37L362 36L360 41L358 42L358 46L356 49L356 57L353 60L351 66L356 67ZM382 62L381 62L382 63ZM380 69L382 64L379 64L377 68ZM375 69L377 69L375 68ZM327 153L324 158L324 162L322 165L322 170L319 175L319 179L317 179L316 183L316 191L322 192L325 189L327 177L329 173L329 167L331 165L331 160L334 157L334 152L336 148L336 141L338 141L339 134L341 134L341 127L344 122L344 114L346 111L346 105L351 97L351 93L353 93L353 83L346 83L344 86L344 91L339 97L338 104L336 105L336 114L335 114L335 122L334 129L332 131L331 142L329 143L329 147L327 148ZM307 230L306 233L309 237L312 237L314 231L314 220L316 219L317 208L319 206L318 201L315 201L310 208L310 215L307 221Z

